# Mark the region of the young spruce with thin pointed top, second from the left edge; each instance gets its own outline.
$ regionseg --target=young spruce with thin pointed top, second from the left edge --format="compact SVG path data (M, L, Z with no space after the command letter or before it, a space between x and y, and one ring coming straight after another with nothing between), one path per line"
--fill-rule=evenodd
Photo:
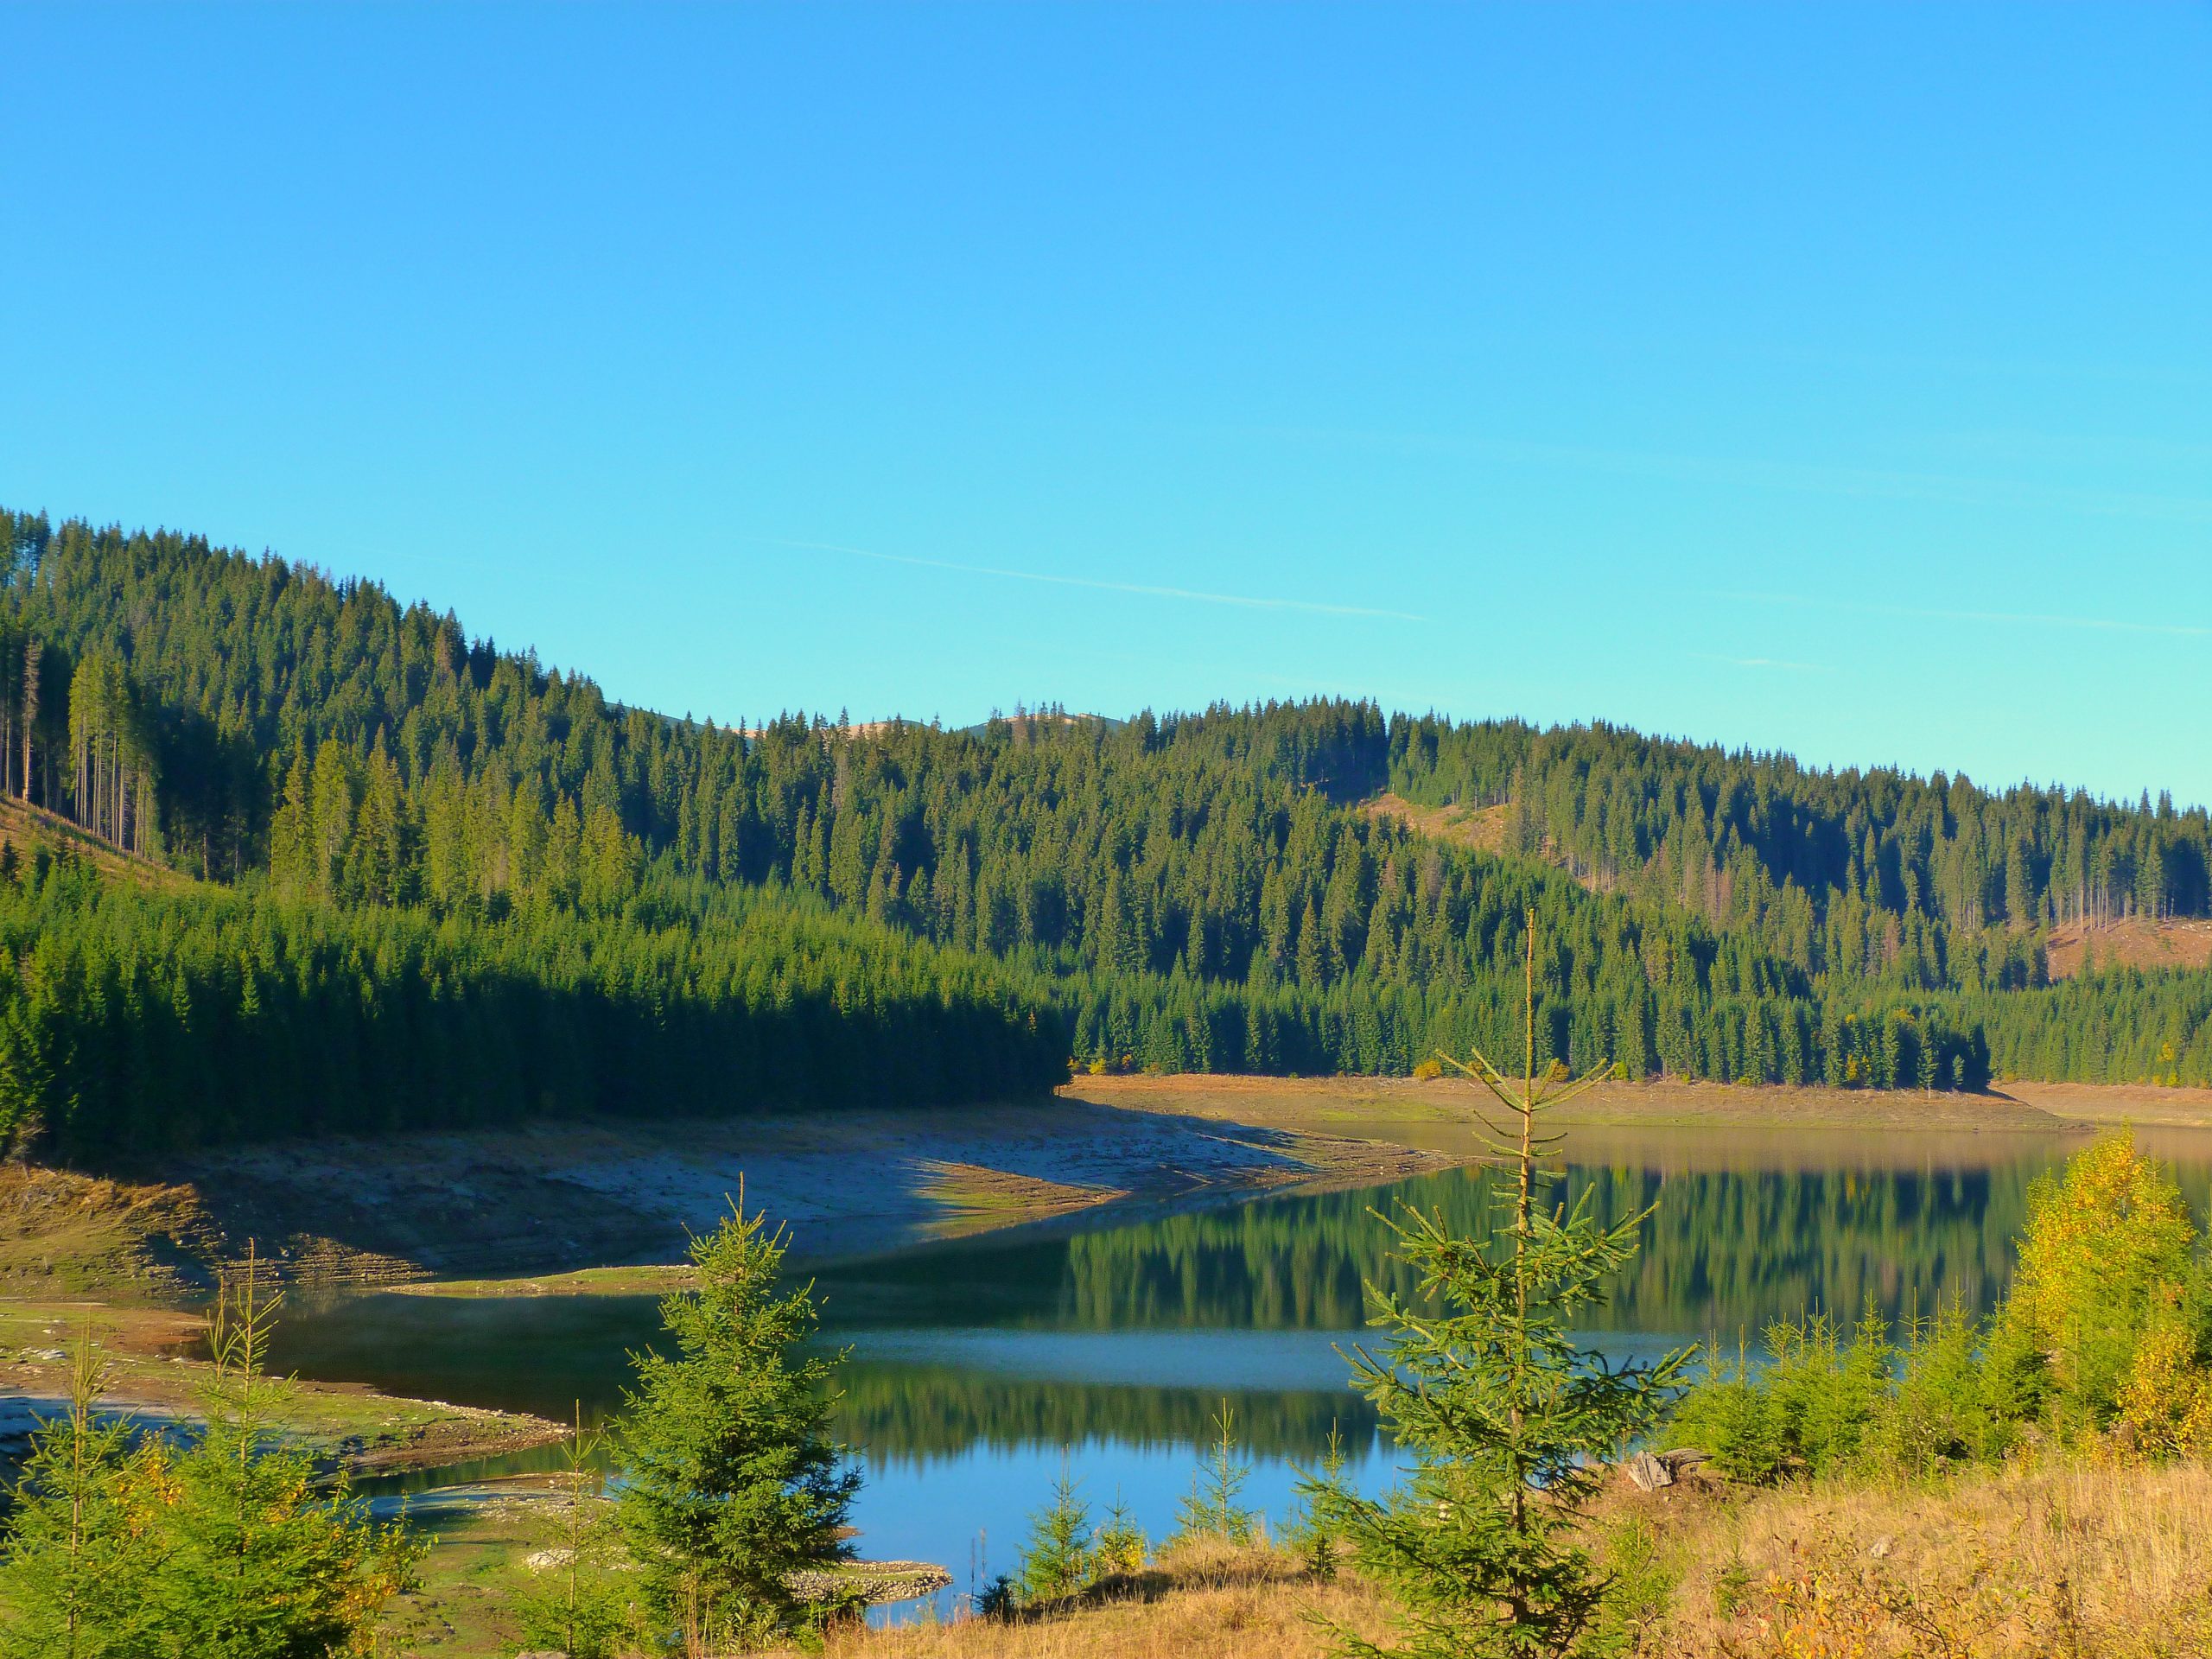
M314 1458L283 1444L285 1383L268 1374L279 1303L248 1256L208 1321L206 1429L175 1460L148 1442L144 1491L161 1504L150 1526L161 1566L148 1586L161 1655L354 1652L420 1559L422 1544L378 1526L343 1475L332 1489Z

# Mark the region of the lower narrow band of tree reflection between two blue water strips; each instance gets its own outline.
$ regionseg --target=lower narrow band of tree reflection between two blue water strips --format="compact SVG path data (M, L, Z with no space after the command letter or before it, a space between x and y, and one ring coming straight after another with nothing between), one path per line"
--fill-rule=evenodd
M978 1442L1190 1447L1212 1433L1223 1398L1237 1409L1239 1440L1267 1458L1318 1458L1332 1422L1349 1444L1365 1444L1376 1431L1374 1407L1356 1394L1022 1380L949 1365L865 1360L852 1360L838 1385L838 1436L891 1462L956 1455Z

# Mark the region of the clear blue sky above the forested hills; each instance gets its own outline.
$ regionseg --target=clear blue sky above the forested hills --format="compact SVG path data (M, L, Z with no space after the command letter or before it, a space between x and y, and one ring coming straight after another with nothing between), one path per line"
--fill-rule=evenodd
M611 695L2212 801L2212 9L0 11L0 500Z

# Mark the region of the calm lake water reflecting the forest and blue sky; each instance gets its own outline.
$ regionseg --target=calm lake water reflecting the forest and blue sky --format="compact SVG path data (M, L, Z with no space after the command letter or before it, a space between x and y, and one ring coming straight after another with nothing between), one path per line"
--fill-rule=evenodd
M1394 1126L1402 1133L1402 1126ZM1358 1133L1352 1126L1347 1133ZM1458 1130L1440 1126L1436 1137ZM1646 1245L1590 1323L1608 1352L1739 1336L1803 1310L1891 1318L1940 1298L1986 1310L2011 1272L2028 1186L2086 1137L1856 1130L1577 1130L1566 1192L1601 1217L1657 1206ZM2212 1137L2146 1133L2203 1212ZM1172 1528L1197 1447L1225 1400L1252 1453L1248 1498L1281 1520L1332 1425L1363 1484L1391 1449L1345 1387L1363 1283L1398 1285L1391 1201L1473 1228L1486 1170L1358 1192L1261 1197L1170 1214L1106 1212L1077 1232L1015 1230L816 1272L827 1336L852 1347L841 1433L863 1462L860 1548L876 1559L1011 1571L1062 1458L1095 1504L1119 1495ZM599 1420L646 1296L449 1301L365 1294L294 1303L274 1363L465 1405ZM544 1458L507 1464L544 1467ZM429 1489L500 1469L411 1475Z

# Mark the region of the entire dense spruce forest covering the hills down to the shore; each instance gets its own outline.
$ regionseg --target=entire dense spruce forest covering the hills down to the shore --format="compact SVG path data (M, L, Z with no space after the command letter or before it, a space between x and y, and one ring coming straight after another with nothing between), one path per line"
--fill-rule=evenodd
M1405 1073L1513 1046L1528 909L1568 1064L2212 1082L2212 975L2046 984L2053 925L2212 909L2163 799L1356 701L714 726L281 557L22 513L0 546L0 790L190 878L0 852L18 1150Z

